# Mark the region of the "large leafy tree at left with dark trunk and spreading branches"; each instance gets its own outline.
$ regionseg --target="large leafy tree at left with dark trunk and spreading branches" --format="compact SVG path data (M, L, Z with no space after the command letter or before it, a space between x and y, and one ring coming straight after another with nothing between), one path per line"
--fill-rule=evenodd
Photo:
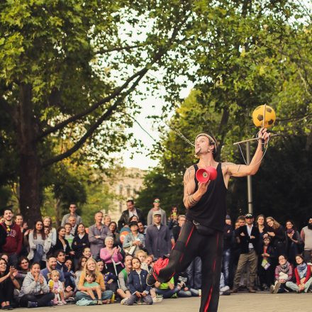
M109 152L121 149L129 135L113 129L131 125L125 112L138 110L131 96L182 38L188 6L187 1L1 2L3 163L12 162L21 213L30 224L40 216L43 177L53 164L85 143L77 162L95 155L103 164ZM62 138L71 142L57 150Z

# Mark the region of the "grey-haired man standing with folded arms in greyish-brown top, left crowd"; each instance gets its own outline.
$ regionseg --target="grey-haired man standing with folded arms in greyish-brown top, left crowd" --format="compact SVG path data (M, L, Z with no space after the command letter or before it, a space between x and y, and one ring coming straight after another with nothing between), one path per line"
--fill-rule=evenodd
M103 213L95 213L95 224L89 227L89 242L91 255L95 260L99 258L100 250L104 247L104 240L107 236L108 228L102 224Z

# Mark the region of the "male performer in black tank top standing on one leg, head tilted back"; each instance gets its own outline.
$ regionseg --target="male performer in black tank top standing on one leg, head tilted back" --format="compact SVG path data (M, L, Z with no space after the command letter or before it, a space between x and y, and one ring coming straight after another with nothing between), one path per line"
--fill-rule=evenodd
M218 144L207 133L199 133L195 139L195 155L199 162L184 174L184 205L186 223L169 258L162 257L147 275L147 284L167 282L176 272L183 272L195 257L201 257L201 307L200 312L218 311L219 284L221 276L223 228L226 207L225 195L230 177L255 174L262 160L262 145L267 143L269 133L262 128L258 133L258 146L250 165L216 162ZM200 183L196 180L198 169L214 167L215 180Z

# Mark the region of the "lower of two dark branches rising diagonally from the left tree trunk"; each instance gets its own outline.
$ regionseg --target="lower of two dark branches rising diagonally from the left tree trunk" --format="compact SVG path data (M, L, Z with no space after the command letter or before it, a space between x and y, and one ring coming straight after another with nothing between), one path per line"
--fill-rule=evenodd
M111 105L107 109L107 111L96 121L96 123L94 123L91 126L91 128L89 128L89 130L87 130L87 132L82 136L82 138L80 138L77 141L77 143L74 144L74 146L72 148L69 148L69 150L67 150L66 152L63 152L60 155L57 155L55 157L50 158L50 160L45 160L45 162L43 162L43 167L47 167L49 165L52 165L55 162L60 162L60 160L64 160L65 158L74 154L74 152L77 152L77 150L79 150L79 148L86 142L86 140L91 135L93 135L96 128L98 128L101 125L101 123L103 123L103 121L105 121L109 116L111 116L113 111L116 110L116 108L122 103L122 101L126 98L126 96L128 96L128 94L130 94L135 89L135 87L138 85L140 80L146 74L147 70L148 69L145 68L144 70L140 71L141 72L140 76L135 80L135 82L133 82L132 86L128 89L128 91L126 91L119 99L117 99L115 101L115 103L113 105Z

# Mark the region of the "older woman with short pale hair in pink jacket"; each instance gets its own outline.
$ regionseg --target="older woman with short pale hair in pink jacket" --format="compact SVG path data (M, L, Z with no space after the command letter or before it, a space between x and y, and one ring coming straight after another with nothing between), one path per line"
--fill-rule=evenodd
M106 247L101 249L100 258L104 261L108 272L114 273L115 266L118 274L123 269L123 264L121 262L123 256L121 255L120 248L113 247L113 238L110 236L105 238L105 245Z

